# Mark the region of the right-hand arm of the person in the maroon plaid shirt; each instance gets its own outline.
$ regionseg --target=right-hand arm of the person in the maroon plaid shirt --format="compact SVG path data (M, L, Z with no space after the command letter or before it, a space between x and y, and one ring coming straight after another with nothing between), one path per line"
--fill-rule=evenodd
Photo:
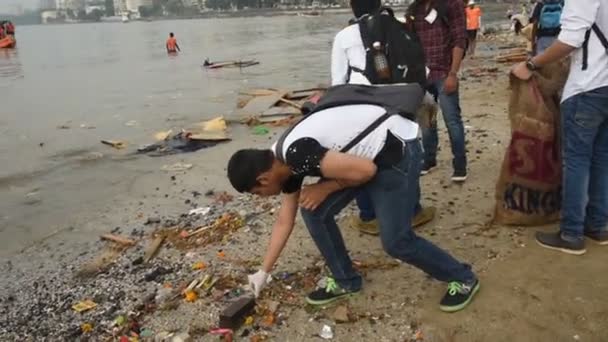
M460 70L464 49L467 44L464 9L460 6L458 0L448 1L448 25L454 47L452 48L450 71L443 85L443 91L446 94L453 93L458 89L458 71Z

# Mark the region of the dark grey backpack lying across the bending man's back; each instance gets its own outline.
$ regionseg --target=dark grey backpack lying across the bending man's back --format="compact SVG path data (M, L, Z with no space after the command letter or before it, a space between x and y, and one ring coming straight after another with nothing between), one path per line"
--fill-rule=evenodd
M327 92L315 105L311 112L304 115L302 120L288 128L279 140L275 147L275 156L281 162L285 162L283 158L283 143L285 138L300 122L306 120L314 113L325 109L348 106L348 105L376 105L383 107L386 112L381 115L370 125L359 133L353 140L340 149L340 152L348 152L351 148L357 145L363 138L373 132L378 126L393 115L400 115L411 121L416 121L416 111L422 99L424 98L424 89L420 84L394 84L387 86L368 86L360 84L343 84L333 86L327 89Z

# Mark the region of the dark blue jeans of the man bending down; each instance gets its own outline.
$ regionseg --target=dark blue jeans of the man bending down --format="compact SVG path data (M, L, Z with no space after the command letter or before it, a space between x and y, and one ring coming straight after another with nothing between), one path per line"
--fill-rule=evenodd
M361 276L354 270L334 216L352 201L360 189L371 198L380 223L384 250L440 281L472 281L469 265L458 262L431 242L416 236L411 221L420 197L422 148L418 140L404 145L404 157L391 168L379 169L376 176L360 188L330 195L316 210L302 209L302 217L333 277L344 289L359 290Z

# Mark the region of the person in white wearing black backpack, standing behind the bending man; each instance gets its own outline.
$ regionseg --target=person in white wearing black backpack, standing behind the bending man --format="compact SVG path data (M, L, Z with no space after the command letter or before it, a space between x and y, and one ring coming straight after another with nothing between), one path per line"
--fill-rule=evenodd
M380 0L351 0L350 1L351 9L353 10L353 14L355 19L352 20L349 25L342 29L336 37L334 38L333 46L332 46L332 54L331 54L331 84L342 85L342 84L366 84L370 85L372 83L381 83L381 80L376 79L373 75L371 75L370 68L374 67L371 60L368 61L367 52L373 51L373 42L369 42L368 45L363 42L363 36L368 37L370 35L373 36L391 36L397 37L398 33L405 30L401 24L396 23L397 19L394 16L391 16L390 13L384 13L381 11ZM374 17L378 15L382 15L382 20L391 21L395 25L367 25L370 21L374 20ZM369 20L371 18L371 20ZM363 26L360 26L361 25ZM379 27L390 27L397 30L395 34L387 34L387 33L369 33L369 32L361 32L361 30L367 30L369 28L379 28ZM423 59L423 51L420 45L418 46L408 46L407 42L389 42L388 45L392 46L393 44L399 44L402 47L406 47L408 49L418 49L419 51L419 61L417 64L424 66ZM392 52L392 51L391 51ZM373 59L373 58L372 58ZM397 60L397 58L390 58L391 60ZM402 61L401 64L408 64L407 60ZM409 64L412 64L410 62ZM390 68L390 67L389 67ZM393 67L392 69L395 69ZM421 67L418 67L421 68ZM366 69L368 71L366 72ZM418 83L424 83L425 76L419 75L420 79L411 80ZM368 79L368 77L371 79ZM394 82L404 82L404 79L395 79ZM435 106L434 100L432 97L426 96L425 101L427 105ZM372 201L369 195L362 191L356 197L357 206L359 207L359 214L352 216L349 218L350 225L357 229L358 231L370 234L370 235L378 235L380 233L380 228L378 227L378 221L376 220L376 213L374 212L374 208L372 206ZM416 207L416 215L414 216L412 226L418 227L424 225L431 220L433 220L435 216L436 208L434 207L425 207L421 206Z

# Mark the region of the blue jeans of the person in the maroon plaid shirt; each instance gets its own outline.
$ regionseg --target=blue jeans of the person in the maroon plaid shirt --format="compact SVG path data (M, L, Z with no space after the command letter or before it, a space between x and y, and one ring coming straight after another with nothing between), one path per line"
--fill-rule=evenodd
M452 145L452 166L454 170L466 171L467 155L465 150L464 125L460 111L460 95L458 90L451 94L443 91L445 80L435 81L432 85L439 91L439 107L448 129L450 143ZM437 147L439 145L439 134L437 122L431 123L429 128L422 129L422 141L424 143L424 160L432 163L437 160Z

